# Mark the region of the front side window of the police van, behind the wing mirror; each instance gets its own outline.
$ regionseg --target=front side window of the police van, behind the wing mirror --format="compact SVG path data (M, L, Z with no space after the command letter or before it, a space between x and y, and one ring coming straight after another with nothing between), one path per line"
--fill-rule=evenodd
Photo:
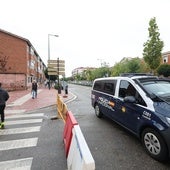
M146 106L146 103L144 102L138 91L133 87L133 85L126 80L121 80L119 87L119 97L124 98L126 96L134 96L136 98L137 104Z

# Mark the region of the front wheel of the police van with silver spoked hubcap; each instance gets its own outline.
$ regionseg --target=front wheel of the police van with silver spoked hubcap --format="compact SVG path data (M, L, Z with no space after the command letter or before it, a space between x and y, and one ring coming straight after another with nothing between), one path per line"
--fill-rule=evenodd
M147 153L158 161L166 161L168 158L167 146L161 135L154 129L146 128L142 132L142 143Z

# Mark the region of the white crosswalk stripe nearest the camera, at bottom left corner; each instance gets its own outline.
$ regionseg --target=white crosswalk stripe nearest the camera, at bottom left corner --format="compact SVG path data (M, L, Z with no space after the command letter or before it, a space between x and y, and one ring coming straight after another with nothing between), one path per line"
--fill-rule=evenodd
M16 159L0 162L1 170L30 170L33 158Z

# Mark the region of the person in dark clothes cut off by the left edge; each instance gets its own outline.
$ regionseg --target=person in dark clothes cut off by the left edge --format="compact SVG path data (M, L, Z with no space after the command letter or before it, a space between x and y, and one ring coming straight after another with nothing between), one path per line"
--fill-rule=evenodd
M0 129L3 129L4 128L4 121L5 121L4 110L5 110L5 107L6 107L6 101L9 99L9 94L1 86L2 86L2 83L0 83L0 114L1 114Z

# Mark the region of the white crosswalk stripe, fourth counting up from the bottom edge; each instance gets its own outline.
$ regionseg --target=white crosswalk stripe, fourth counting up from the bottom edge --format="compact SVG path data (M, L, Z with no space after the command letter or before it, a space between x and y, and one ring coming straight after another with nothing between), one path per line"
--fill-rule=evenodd
M43 119L28 119L28 120L10 120L6 121L5 125L17 125L17 124L29 124L29 123L40 123Z

